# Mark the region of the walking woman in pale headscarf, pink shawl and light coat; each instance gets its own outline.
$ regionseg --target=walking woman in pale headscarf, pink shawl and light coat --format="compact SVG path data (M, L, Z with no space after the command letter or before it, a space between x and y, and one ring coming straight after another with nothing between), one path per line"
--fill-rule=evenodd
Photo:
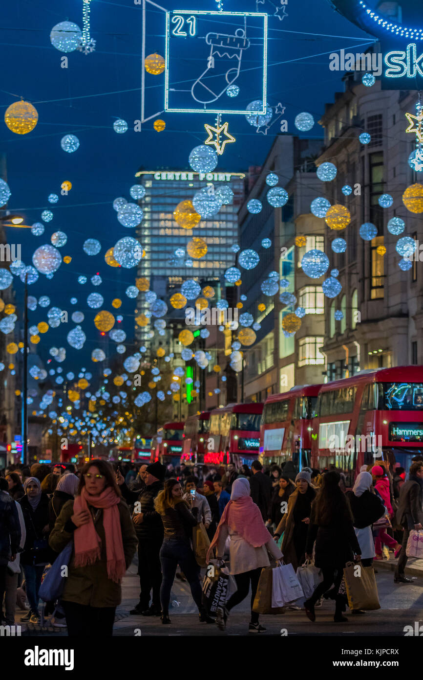
M259 585L263 566L269 566L268 552L274 560L281 560L282 553L264 526L261 512L250 496L248 479L236 479L232 484L231 500L227 503L215 537L207 553L207 561L216 549L217 559L225 553L226 539L229 537L229 571L235 577L238 590L217 610L216 623L225 630L229 611L239 605L249 594L251 584L251 622L249 633L259 633L266 629L259 624L259 615L253 611L253 602Z

